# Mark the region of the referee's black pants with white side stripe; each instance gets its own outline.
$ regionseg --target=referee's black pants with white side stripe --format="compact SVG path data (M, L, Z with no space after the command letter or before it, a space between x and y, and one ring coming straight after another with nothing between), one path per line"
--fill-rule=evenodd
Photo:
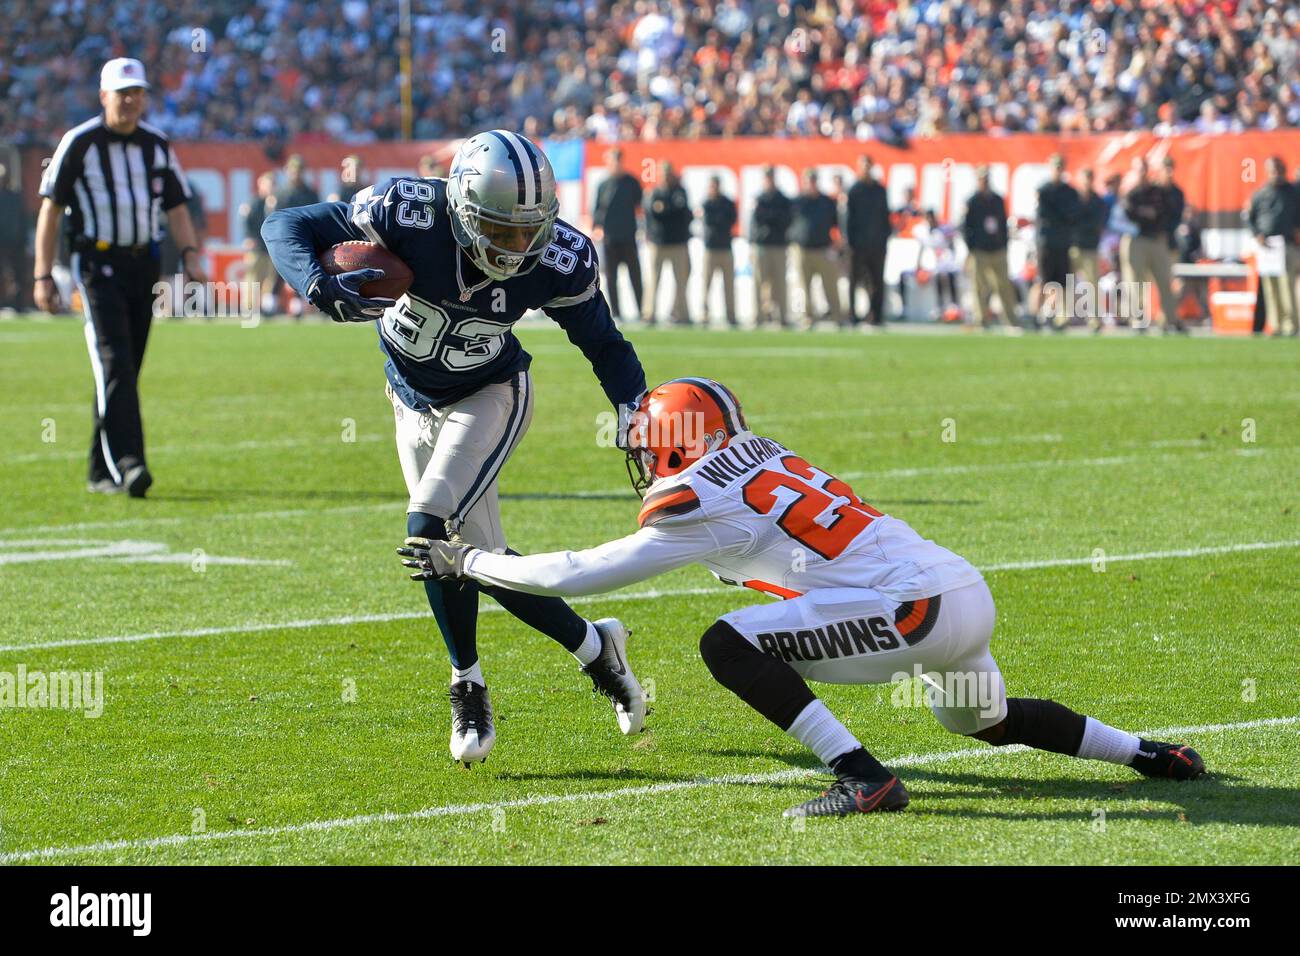
M121 484L127 470L146 463L138 382L153 324L157 252L92 248L75 252L72 267L82 294L86 346L95 375L88 477Z

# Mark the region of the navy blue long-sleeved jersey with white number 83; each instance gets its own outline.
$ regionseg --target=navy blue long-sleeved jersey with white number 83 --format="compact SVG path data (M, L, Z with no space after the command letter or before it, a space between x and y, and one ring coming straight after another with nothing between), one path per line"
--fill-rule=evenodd
M280 209L261 235L280 274L302 295L325 277L320 254L339 242L376 242L411 267L411 289L376 320L385 373L411 408L452 405L528 368L532 356L511 329L533 308L582 350L611 403L632 402L645 390L636 351L601 291L592 241L563 221L541 261L503 282L462 254L443 179L387 179L350 203Z

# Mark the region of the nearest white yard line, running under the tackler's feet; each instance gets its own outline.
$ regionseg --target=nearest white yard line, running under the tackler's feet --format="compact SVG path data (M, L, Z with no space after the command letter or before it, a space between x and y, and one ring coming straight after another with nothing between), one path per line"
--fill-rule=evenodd
M1300 723L1300 717L1273 717L1262 721L1243 721L1240 723L1206 723L1192 727L1160 727L1157 730L1140 731L1144 737L1186 736L1190 734L1221 734L1234 730L1258 730L1264 727L1286 727ZM885 763L893 767L926 766L928 763L946 763L954 760L987 758L1009 753L1022 753L1030 748L1023 745L1013 747L979 747L962 750L946 750L942 753L909 753L887 758ZM618 790L589 791L582 793L540 793L536 796L519 797L516 800L497 800L478 804L445 804L442 806L426 806L420 810L406 813L367 813L358 817L337 817L334 819L312 819L303 823L286 823L283 826L261 827L257 830L209 830L202 834L170 834L168 836L148 836L133 840L101 840L99 843L86 843L75 847L43 847L40 849L16 851L0 853L0 865L31 862L35 860L56 860L65 856L82 856L86 853L113 853L117 851L133 849L162 849L168 847L183 847L191 843L205 843L213 840L256 839L264 836L283 836L289 834L316 834L332 830L350 830L361 826L381 826L387 823L410 823L437 817L464 817L474 813L488 813L491 810L524 809L529 806L550 806L554 804L573 804L590 800L620 800L627 797L659 796L684 790L701 790L705 787L728 786L754 786L764 783L781 783L784 780L797 780L812 777L818 770L776 770L768 774L734 774L725 777L705 777L696 780L676 780L672 783L653 783L644 787L620 787Z

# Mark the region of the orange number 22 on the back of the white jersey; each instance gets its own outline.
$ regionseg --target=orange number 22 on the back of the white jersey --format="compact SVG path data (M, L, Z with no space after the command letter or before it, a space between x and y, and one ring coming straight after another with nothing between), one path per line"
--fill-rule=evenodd
M777 515L781 531L827 561L840 557L863 528L883 516L844 481L798 455L783 455L781 467L784 472L763 468L745 484L741 497L755 512ZM848 502L831 511L827 524L818 524L818 515L836 498Z

